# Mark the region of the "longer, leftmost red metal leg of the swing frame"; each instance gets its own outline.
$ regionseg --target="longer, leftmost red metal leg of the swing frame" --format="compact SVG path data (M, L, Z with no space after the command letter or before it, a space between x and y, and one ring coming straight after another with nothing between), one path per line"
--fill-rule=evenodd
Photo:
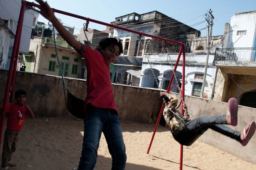
M13 50L12 50L12 58L11 58L11 63L10 63L10 67L9 67L9 75L8 75L7 82L6 82L6 89L5 89L4 100L3 100L3 112L2 112L1 120L0 120L0 144L2 143L3 126L4 126L4 120L5 120L5 114L6 114L6 105L7 105L7 100L8 100L9 91L10 91L12 71L14 69L16 50L18 50L17 49L18 43L19 43L18 41L19 41L19 37L21 36L21 29L22 29L21 20L24 17L25 6L26 6L25 1L22 1L21 12L20 12L20 16L19 16L18 26L17 26Z

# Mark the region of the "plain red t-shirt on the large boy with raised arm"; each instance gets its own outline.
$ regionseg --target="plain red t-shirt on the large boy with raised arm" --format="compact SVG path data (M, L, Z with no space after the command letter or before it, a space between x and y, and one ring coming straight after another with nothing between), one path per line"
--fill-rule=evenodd
M85 51L81 55L85 58L87 67L87 96L84 101L84 110L91 103L97 108L111 108L118 112L115 105L113 87L110 78L109 65L103 55L85 46Z

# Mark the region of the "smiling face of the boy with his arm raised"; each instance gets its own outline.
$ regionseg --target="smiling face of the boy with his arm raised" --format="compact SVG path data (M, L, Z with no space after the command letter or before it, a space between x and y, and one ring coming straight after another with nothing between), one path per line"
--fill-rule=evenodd
M103 57L108 65L115 62L118 54L119 47L117 45L111 45L103 50Z

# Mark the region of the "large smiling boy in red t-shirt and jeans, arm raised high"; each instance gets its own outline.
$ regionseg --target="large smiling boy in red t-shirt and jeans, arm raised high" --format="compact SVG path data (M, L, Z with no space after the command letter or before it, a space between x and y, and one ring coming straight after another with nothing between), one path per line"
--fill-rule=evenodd
M124 170L127 156L109 73L109 64L115 62L117 56L123 53L121 41L106 38L100 41L96 50L92 50L74 39L59 23L47 3L36 1L40 4L36 6L41 10L40 14L53 23L62 38L86 61L85 127L78 170L92 170L95 167L102 132L112 156L112 170Z

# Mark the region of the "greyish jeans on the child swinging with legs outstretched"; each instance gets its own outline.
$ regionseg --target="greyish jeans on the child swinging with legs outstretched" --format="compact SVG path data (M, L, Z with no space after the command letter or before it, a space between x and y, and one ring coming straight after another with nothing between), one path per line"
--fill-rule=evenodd
M207 129L210 128L216 132L240 141L240 132L225 126L224 124L227 124L225 114L217 116L202 115L189 122L186 122L186 126L191 132L203 134Z

